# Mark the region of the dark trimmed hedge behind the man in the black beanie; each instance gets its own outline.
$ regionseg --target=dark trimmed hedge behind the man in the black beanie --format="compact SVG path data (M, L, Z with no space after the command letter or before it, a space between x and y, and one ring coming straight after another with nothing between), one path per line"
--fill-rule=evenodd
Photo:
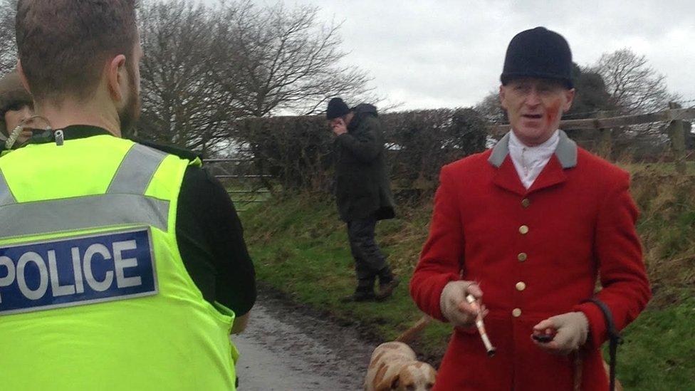
M487 123L470 108L380 115L387 162L397 189L432 189L442 165L486 148ZM234 140L256 169L284 189L328 190L333 181L333 134L323 116L249 118Z

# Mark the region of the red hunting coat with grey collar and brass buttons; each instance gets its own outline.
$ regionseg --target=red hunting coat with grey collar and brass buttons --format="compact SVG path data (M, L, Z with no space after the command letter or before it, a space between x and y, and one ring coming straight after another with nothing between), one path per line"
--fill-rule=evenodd
M531 341L535 324L582 311L582 390L608 389L600 345L607 329L596 296L622 330L651 298L634 229L629 175L578 148L564 132L555 155L526 190L508 155L493 150L441 169L429 238L410 283L417 306L445 320L439 296L449 281L477 281L489 310L488 358L475 328L456 328L434 390L573 390L575 355L550 355ZM602 290L595 292L600 276Z

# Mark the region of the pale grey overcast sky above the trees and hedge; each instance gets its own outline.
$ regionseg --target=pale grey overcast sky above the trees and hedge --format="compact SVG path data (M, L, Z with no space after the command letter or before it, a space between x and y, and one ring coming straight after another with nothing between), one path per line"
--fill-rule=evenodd
M216 0L202 0L214 4ZM256 0L256 4L276 1ZM669 88L695 99L695 1L288 0L343 21L345 62L368 71L378 95L401 109L474 105L499 85L511 38L545 26L570 43L574 61L595 63L629 47ZM694 105L688 103L687 105Z

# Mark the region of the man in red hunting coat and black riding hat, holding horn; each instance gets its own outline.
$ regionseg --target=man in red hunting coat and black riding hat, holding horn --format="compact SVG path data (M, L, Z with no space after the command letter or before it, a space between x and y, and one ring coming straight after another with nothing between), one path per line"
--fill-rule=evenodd
M621 330L651 297L629 175L558 130L575 95L571 67L558 33L515 36L500 87L512 131L441 169L410 284L422 311L456 326L434 390L607 390L607 325L586 300L605 303ZM469 293L484 303L492 358Z

